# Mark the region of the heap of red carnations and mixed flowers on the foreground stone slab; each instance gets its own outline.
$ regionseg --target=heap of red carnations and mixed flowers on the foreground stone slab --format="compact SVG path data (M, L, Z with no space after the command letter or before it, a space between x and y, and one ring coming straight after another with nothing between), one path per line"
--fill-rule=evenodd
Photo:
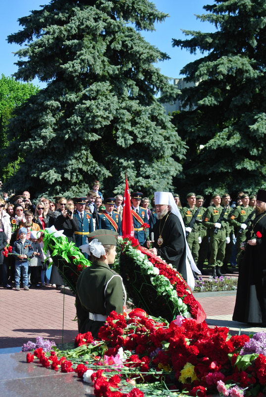
M98 337L79 334L76 348L35 349L27 361L38 359L56 371L75 372L94 385L99 397L266 393L264 333L230 337L225 327L209 328L181 316L168 324L135 309L129 318L111 312Z

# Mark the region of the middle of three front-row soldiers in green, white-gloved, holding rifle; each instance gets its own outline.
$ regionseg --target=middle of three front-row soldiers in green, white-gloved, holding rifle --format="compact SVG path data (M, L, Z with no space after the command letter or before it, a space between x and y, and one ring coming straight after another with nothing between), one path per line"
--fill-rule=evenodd
M223 211L223 207L220 206L221 196L217 193L213 194L212 197L213 205L207 208L205 213L205 219L203 220L204 225L209 229L210 235L210 266L213 267L213 277L222 276L220 272L220 267L222 266L222 261L225 254L225 244L226 241L230 241L229 237L229 224L224 219L227 218L228 212L224 213L223 219L218 222L220 215ZM215 228L217 233L214 233Z

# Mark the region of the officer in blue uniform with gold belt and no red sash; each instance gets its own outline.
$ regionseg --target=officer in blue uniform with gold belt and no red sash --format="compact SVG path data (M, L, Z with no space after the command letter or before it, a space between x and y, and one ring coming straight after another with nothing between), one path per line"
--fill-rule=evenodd
M80 247L86 244L88 235L93 231L93 219L91 214L85 212L86 197L74 198L73 201L76 205L76 211L74 211L73 217L76 217L79 221L79 230L74 231L74 234L76 246Z

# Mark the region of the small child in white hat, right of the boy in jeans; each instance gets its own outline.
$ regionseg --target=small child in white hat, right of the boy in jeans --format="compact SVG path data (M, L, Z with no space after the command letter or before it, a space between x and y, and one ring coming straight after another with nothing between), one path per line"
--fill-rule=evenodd
M27 222L26 222L26 224L27 224ZM32 248L34 250L32 257L29 258L31 285L35 285L36 287L39 288L41 286L39 284L39 276L40 276L40 270L41 270L41 266L42 266L43 250L40 246L40 243L38 242L37 231L35 231L35 230L30 231L30 241L31 241Z

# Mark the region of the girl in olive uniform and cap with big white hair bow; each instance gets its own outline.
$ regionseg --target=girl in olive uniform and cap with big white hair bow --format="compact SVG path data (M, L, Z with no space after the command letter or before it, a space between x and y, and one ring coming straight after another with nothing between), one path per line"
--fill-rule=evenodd
M117 236L112 230L95 230L88 236L89 244L80 247L93 264L83 270L77 281L78 330L82 334L90 331L94 338L112 310L123 313L126 301L121 276L108 266L114 263Z

